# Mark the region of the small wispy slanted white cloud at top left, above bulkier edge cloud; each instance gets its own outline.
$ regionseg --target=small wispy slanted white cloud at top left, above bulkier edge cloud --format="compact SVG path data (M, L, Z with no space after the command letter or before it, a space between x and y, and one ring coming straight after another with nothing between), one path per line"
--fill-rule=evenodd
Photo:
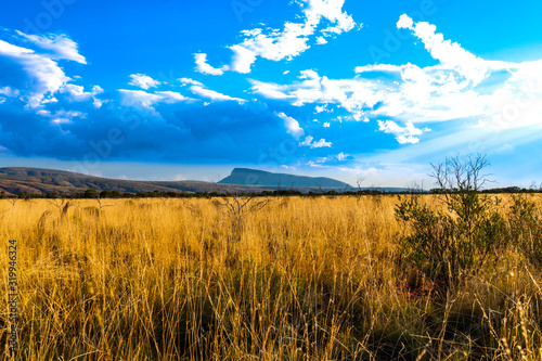
M27 35L18 30L16 33L37 48L46 52L49 51L49 57L52 60L68 60L79 64L87 64L85 56L79 54L77 42L64 34L46 34L40 36Z

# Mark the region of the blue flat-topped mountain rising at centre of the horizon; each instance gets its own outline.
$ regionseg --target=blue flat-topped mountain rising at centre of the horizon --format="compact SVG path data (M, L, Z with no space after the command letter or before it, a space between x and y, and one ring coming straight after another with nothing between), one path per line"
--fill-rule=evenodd
M282 189L337 189L349 190L350 184L345 182L325 178L325 177L305 177L286 173L272 173L263 170L235 168L232 173L222 179L220 184L236 184L236 185L256 185L256 186L274 186Z

